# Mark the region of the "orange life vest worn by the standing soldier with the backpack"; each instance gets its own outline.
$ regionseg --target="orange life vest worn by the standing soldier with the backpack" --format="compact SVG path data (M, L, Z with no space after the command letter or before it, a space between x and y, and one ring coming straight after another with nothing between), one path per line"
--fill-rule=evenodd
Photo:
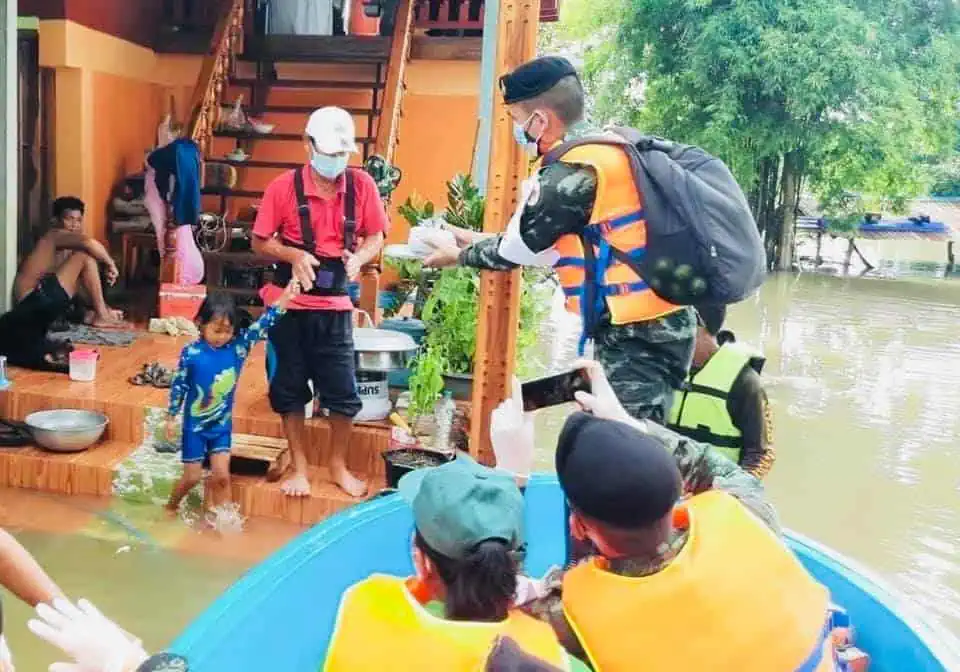
M566 296L567 310L584 317L588 333L595 326L604 301L613 324L643 322L679 310L679 306L657 296L639 275L610 253L609 246L613 246L639 262L647 246L643 200L624 151L609 145L581 145L560 160L592 166L597 172L596 201L583 236L568 234L554 244L560 255L554 268ZM590 242L592 254L586 253L584 240ZM591 258L592 292L586 286ZM591 296L592 307L585 303Z

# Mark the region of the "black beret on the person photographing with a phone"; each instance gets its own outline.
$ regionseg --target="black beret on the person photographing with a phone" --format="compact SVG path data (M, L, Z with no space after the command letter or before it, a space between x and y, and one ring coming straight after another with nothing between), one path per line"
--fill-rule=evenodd
M570 505L594 520L647 527L680 498L680 471L656 437L614 420L574 413L557 441L557 478Z

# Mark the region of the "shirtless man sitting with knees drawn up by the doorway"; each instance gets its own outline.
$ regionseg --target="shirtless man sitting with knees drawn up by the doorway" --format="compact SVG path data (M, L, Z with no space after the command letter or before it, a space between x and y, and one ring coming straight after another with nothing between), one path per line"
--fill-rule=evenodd
M17 285L15 286L15 298L19 301L22 296L31 291L36 283L47 273L54 273L62 266L71 255L76 254L76 246L70 243L57 245L55 240L50 239L50 233L54 231L67 231L70 233L83 235L83 216L86 207L83 201L75 196L62 196L53 202L53 221L40 241L37 243L34 251L27 257L20 268L17 276ZM96 242L96 241L94 241ZM46 243L46 244L45 244ZM51 244L56 247L54 254L49 254ZM99 244L98 244L99 245ZM109 284L113 284L117 276L117 266L106 249L100 246L102 255L87 250L85 255L86 264L81 275L80 284L77 287L77 295L72 303L78 304L81 309L81 317L76 319L83 321L94 327L117 327L122 326L121 320L123 313L119 310L113 310L107 305L103 296L103 282L100 278L100 270L97 262L106 266L106 279ZM21 286L22 279L22 286ZM66 317L66 314L64 315ZM73 319L71 317L71 319Z

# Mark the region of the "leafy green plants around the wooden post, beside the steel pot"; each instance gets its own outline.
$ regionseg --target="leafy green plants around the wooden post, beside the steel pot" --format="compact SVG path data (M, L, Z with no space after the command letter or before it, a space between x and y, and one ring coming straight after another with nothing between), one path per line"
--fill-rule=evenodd
M446 222L473 231L481 230L485 200L467 175L457 175L447 183L448 207L442 213ZM435 216L432 203L408 199L400 213L416 226ZM412 267L406 268L408 276ZM401 271L402 277L403 271ZM547 313L549 287L547 276L525 269L520 299L520 334L517 360L530 365L538 340L540 324ZM409 278L413 280L414 278ZM467 399L473 386L479 315L480 273L472 268L443 271L419 269L416 278L414 312L426 326L426 337L413 364L409 380L409 416L416 418L432 412L443 390L457 399Z

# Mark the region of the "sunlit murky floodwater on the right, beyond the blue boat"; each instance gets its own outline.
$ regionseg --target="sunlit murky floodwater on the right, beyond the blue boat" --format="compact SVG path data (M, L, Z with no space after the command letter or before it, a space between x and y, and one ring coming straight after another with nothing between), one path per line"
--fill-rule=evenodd
M576 327L551 326L560 367ZM768 358L784 523L960 633L960 283L782 275L728 326ZM538 418L543 468L568 412Z

